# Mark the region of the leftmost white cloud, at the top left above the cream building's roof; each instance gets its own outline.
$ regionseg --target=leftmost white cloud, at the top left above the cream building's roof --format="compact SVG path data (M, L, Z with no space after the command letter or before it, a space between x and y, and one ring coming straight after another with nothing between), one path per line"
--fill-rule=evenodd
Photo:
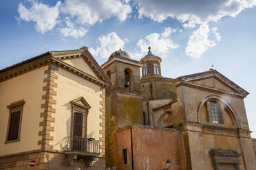
M31 7L26 8L22 3L18 6L19 18L25 21L36 22L37 31L44 34L47 31L53 29L58 22L58 14L61 6L61 1L58 1L54 7L38 3L31 0Z

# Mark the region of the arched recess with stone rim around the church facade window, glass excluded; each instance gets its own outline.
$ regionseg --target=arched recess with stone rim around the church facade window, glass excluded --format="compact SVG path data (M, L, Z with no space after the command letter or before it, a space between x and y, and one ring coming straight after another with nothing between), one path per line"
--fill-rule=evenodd
M217 101L223 104L221 109L221 119L223 125L236 125L238 128L241 127L237 115L235 114L233 108L228 104L226 100L218 95L207 95L204 99L200 102L198 106L198 122L199 123L212 123L211 115L209 114L209 104L207 101ZM207 106L208 105L208 106ZM207 115L204 115L207 114Z

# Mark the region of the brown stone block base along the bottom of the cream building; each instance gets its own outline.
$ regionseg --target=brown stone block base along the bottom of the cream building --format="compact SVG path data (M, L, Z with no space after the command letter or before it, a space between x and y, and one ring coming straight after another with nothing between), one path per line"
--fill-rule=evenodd
M29 162L35 160L37 165L30 167ZM67 170L103 170L105 169L105 158L96 158L88 164L86 160L74 160L73 163L64 153L54 151L30 151L23 154L14 154L0 157L1 170L23 170L23 169L67 169ZM71 165L73 164L73 165ZM88 166L89 165L89 166Z

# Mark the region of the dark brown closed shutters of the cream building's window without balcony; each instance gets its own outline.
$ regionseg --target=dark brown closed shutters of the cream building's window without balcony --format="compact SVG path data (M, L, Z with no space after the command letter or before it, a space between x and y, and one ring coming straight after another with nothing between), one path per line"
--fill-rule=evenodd
M19 122L21 119L21 111L12 112L10 116L10 125L8 132L8 141L17 140L19 137Z

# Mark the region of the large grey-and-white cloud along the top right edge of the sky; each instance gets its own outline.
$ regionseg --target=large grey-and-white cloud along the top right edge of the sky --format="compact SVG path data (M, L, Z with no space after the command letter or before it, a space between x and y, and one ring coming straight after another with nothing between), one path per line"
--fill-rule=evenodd
M195 27L209 21L218 21L224 16L235 17L245 8L252 8L256 0L215 1L155 1L134 0L138 4L139 17L143 16L162 22L168 17L178 19L184 27Z

